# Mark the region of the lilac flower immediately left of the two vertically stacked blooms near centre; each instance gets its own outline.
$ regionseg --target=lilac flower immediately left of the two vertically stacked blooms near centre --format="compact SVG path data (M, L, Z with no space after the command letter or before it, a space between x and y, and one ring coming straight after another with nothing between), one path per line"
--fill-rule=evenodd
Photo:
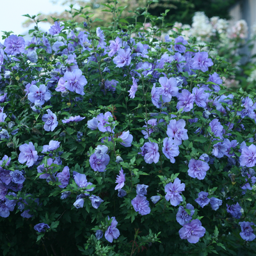
M141 147L141 153L138 154L141 154L148 164L152 164L153 162L155 164L158 163L160 157L158 145L155 142L146 142L143 147Z

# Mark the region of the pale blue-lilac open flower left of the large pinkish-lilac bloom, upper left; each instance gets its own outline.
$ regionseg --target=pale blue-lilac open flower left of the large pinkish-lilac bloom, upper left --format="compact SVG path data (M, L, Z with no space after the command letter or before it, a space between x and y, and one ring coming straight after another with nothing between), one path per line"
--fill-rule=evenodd
M44 84L40 84L39 88L33 84L29 87L28 99L32 103L44 105L45 101L51 99L51 92L47 90Z

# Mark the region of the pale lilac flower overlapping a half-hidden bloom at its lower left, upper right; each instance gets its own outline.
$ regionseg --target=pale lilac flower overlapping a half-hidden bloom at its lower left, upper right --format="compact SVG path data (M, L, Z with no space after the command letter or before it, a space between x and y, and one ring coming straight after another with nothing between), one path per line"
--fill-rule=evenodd
M170 102L172 96L177 96L179 93L179 88L177 87L177 81L174 77L160 77L159 83L161 84L161 93L163 102Z

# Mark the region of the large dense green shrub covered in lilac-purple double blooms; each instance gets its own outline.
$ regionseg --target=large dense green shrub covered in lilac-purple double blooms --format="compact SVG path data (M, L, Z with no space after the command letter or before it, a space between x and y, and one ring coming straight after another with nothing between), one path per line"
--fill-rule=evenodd
M157 40L166 13L148 33L70 13L3 37L3 255L255 252L255 93L193 39Z

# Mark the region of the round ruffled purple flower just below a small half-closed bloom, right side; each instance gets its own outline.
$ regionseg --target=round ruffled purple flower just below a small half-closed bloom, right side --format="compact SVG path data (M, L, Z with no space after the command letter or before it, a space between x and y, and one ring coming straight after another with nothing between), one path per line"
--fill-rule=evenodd
M188 164L188 175L198 180L205 178L206 172L210 169L210 166L202 160L191 159Z

